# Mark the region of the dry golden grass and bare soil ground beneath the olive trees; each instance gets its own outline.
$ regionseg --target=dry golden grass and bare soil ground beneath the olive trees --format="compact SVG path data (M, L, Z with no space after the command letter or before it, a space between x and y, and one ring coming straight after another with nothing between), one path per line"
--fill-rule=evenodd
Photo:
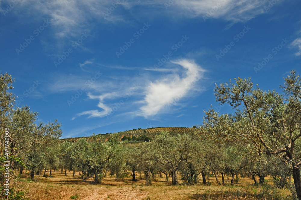
M157 176L152 181L152 186L144 186L145 180L143 177L139 178L139 173L136 175L138 181L132 181L131 177L116 181L114 177L107 176L98 185L91 184L93 178L89 178L86 183L83 183L79 173L73 177L72 172L68 172L67 176L64 176L64 173L56 171L52 173L52 176L51 178L37 176L37 182L22 178L16 183L26 190L26 196L31 200L70 200L71 196L78 196L77 200L261 199L252 196L252 194L259 193L261 189L253 186L253 180L248 177L240 178L236 186L230 186L230 179L227 177L225 177L226 186L218 186L213 177L209 177L209 182L212 183L210 186L202 184L172 186L171 180L167 183L163 177ZM272 182L269 177L267 179L270 183ZM247 195L244 195L246 193ZM282 189L281 193L289 194L289 191Z

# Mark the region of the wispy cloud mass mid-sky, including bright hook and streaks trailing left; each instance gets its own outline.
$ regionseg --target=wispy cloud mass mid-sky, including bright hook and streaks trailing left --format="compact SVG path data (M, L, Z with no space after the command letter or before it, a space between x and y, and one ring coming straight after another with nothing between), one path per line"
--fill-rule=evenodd
M117 82L103 80L101 83L95 83L93 88L86 91L86 95L88 100L98 100L98 109L82 111L72 120L84 115L87 115L87 118L108 116L120 100L126 104L118 113L127 113L132 117L157 115L164 111L167 105L172 106L173 110L181 109L180 99L189 97L193 91L202 90L197 82L204 79L205 70L193 60L180 59L171 63L170 70L158 71L158 74L150 77L140 74L139 77L131 77L123 83L117 79ZM147 68L141 70L149 71ZM82 79L77 78L78 80L76 77L59 80L51 85L51 89L53 92L75 90L80 87L79 83L84 83Z

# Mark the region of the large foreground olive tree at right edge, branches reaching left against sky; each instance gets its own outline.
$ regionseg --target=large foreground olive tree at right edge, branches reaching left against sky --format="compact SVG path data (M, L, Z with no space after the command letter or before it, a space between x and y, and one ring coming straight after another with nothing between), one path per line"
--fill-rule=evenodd
M265 92L258 85L253 88L251 78L234 79L234 83L216 85L216 100L228 103L239 110L247 120L249 131L244 132L258 151L267 155L282 155L293 168L293 179L298 199L301 200L301 79L295 71L284 78L281 88L284 95L275 90Z

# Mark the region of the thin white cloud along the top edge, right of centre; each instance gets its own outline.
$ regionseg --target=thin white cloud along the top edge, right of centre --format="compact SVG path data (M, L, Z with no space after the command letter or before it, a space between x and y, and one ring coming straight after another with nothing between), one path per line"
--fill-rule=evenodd
M165 12L176 13L177 16L222 18L229 21L246 21L264 13L268 0L172 0L139 1L136 4L162 6Z

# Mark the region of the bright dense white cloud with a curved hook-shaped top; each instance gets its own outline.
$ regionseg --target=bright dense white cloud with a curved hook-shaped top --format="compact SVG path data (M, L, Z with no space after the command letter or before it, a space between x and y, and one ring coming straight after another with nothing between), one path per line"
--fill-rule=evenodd
M154 116L167 105L177 103L188 92L194 89L195 83L203 77L203 70L192 60L182 59L174 64L179 64L187 71L186 77L172 74L161 80L151 82L145 91L142 101L145 105L140 108L138 115L145 117Z

